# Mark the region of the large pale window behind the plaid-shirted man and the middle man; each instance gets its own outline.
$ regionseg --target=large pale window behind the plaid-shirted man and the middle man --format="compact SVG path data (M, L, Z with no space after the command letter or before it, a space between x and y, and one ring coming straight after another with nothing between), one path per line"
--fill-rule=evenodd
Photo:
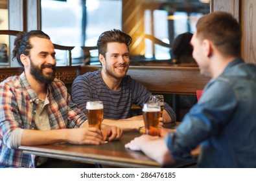
M52 43L75 47L72 50L73 64L84 61L81 46L96 46L102 32L121 29L121 18L122 1L41 0L41 29L51 37ZM97 58L98 52L91 52L91 56ZM65 65L67 52L56 51L56 59L57 65Z

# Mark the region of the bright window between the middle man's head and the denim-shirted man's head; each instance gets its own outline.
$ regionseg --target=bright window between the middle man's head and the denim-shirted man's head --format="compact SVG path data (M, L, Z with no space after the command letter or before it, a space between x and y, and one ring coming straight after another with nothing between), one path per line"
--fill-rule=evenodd
M209 1L156 3L155 6L145 7L145 34L156 37L159 41L169 46L154 44L145 38L145 60L168 60L172 59L170 44L179 34L194 32L196 21L209 12ZM153 27L153 28L152 28Z

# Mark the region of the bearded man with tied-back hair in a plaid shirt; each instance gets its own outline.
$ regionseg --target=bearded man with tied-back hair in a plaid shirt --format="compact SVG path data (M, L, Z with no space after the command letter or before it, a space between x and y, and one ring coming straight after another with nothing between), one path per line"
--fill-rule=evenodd
M71 101L62 81L55 79L56 59L50 37L40 30L21 32L14 57L24 68L20 76L0 84L0 167L91 167L24 154L19 145L102 144L117 140L122 130L103 125L89 128L86 115ZM108 137L108 138L107 138Z

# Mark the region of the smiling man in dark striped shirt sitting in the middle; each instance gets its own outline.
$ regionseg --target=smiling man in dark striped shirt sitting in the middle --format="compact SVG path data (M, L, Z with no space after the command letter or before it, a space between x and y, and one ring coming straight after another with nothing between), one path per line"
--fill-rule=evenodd
M130 65L130 43L132 37L120 30L103 32L97 41L102 69L78 76L73 81L71 93L73 102L83 112L86 112L87 101L102 101L103 123L117 125L124 131L144 126L141 115L130 118L130 108L134 104L143 107L152 95L146 87L126 75ZM175 121L176 114L165 103L163 123Z

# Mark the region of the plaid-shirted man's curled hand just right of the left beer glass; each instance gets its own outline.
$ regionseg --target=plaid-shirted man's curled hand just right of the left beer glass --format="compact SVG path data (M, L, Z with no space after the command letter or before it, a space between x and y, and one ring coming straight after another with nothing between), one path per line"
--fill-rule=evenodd
M113 141L122 138L122 129L116 126L101 125L103 140Z

